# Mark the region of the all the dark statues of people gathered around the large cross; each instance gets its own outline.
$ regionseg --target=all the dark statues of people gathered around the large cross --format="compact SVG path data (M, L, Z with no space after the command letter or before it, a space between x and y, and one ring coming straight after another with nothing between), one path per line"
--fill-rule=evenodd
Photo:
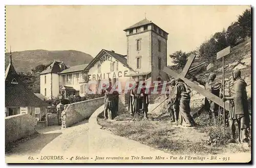
M238 124L239 138L238 142L249 142L249 130L250 130L250 117L248 111L248 101L246 92L246 82L241 79L241 71L232 71L232 77L234 85L232 87L232 96L223 98L222 83L215 81L216 74L210 74L207 80L198 80L195 76L192 76L192 80L196 81L200 85L205 87L205 90L210 93L222 98L223 102L230 101L230 111L227 113L228 125L232 134L229 142L236 142L236 126ZM103 89L102 93L105 94L105 107L104 107L104 118L113 119L117 115L118 111L118 91L113 91L111 80L109 81L110 86L107 89ZM169 81L170 85L166 87L166 100L167 107L171 121L176 122L177 125L185 127L196 127L197 124L190 114L190 88L180 78ZM142 84L145 86L145 83ZM172 93L172 94L171 94ZM148 113L148 94L146 93L145 87L139 87L139 81L136 82L133 89L129 91L129 105L128 109L132 115L132 121L135 121L136 117L147 119ZM204 108L209 115L209 121L217 125L217 118L220 115L219 105L205 98ZM224 121L226 122L226 120ZM222 130L220 130L222 131Z

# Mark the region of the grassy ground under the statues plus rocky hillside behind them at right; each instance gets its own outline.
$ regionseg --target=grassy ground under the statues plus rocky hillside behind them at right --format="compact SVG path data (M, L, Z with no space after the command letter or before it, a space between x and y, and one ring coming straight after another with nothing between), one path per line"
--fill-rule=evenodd
M239 62L245 57L251 55L250 39L231 49L231 53L225 58L225 65L230 65L234 62ZM242 63L243 64L243 63ZM233 66L226 66L225 78L229 78ZM216 80L222 78L222 61L217 62L217 65L209 71L203 71L197 74L201 79L207 78L208 74L214 71L217 74ZM243 78L248 84L247 93L250 97L250 79L251 79L251 65L242 69ZM165 95L159 95L158 98L153 98L154 103L160 103L165 99ZM197 111L203 106L203 97L196 93L191 95L191 113ZM249 98L250 99L250 98ZM250 103L249 103L250 106ZM224 142L223 121L220 119L219 126L212 126L206 119L208 116L205 112L201 113L195 121L200 125L196 129L181 128L169 123L170 117L166 113L166 102L159 106L154 112L149 112L148 121L129 122L125 119L131 119L129 113L123 108L119 109L119 116L117 121L104 121L99 117L98 122L104 129L112 131L114 134L124 136L129 139L137 140L145 145L153 148L163 150L170 154L223 154L223 153L237 153L250 152L248 146L238 144L226 144ZM221 117L222 118L222 117ZM124 121L118 121L122 119ZM227 129L226 137L230 137Z

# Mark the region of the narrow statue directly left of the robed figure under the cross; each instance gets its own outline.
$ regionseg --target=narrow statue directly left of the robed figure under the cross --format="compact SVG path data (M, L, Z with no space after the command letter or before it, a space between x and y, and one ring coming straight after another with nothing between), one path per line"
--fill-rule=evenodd
M168 113L170 114L170 117L172 120L170 122L175 122L178 123L179 119L179 105L177 104L178 101L172 102L172 97L169 97L169 94L172 92L172 90L175 87L175 80L170 81L170 85L167 86L166 91L168 92L166 94L167 97L167 110Z

